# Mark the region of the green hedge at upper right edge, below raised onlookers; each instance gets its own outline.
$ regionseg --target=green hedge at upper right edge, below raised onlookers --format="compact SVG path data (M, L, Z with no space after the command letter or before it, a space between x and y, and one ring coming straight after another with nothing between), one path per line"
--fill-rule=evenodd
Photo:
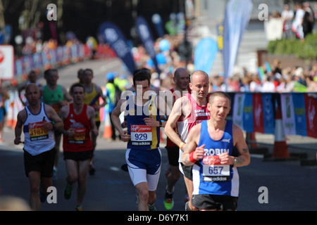
M299 39L281 39L270 41L268 53L277 55L292 55L303 59L317 59L317 32L307 35L305 41Z

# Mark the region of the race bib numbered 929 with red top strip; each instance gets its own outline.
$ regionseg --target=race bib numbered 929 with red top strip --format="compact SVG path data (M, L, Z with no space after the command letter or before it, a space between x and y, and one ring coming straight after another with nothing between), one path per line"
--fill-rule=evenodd
M147 125L131 125L132 146L151 146L152 127Z

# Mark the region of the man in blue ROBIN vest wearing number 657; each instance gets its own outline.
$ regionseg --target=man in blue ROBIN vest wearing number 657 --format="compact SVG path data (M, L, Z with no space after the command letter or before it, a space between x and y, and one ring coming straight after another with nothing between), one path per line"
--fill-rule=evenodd
M184 165L193 165L192 205L199 210L237 210L237 167L249 165L249 149L242 129L225 120L230 111L228 94L214 92L207 107L209 120L189 131L182 155Z

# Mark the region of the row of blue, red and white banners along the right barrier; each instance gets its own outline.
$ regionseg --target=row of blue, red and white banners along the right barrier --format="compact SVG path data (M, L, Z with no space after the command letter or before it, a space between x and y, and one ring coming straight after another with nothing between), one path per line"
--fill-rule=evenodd
M276 134L317 138L316 93L228 93L232 103L231 120L248 133ZM278 117L278 108L281 115ZM276 120L282 127L275 130Z

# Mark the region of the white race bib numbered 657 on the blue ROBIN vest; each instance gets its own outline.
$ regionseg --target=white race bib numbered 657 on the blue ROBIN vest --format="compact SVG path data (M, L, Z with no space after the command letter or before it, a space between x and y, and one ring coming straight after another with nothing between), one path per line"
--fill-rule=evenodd
M205 155L203 158L204 181L229 181L230 165L221 165L219 155Z

